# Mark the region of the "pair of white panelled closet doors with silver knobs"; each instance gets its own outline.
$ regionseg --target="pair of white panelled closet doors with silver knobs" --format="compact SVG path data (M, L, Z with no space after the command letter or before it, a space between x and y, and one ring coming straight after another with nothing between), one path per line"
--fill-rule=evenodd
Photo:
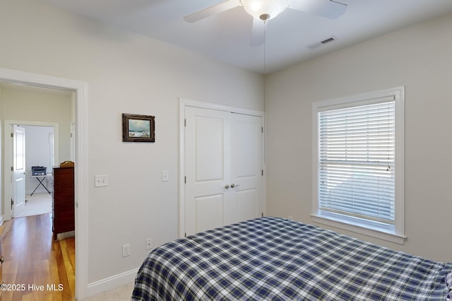
M186 107L185 119L186 235L260 216L261 117Z

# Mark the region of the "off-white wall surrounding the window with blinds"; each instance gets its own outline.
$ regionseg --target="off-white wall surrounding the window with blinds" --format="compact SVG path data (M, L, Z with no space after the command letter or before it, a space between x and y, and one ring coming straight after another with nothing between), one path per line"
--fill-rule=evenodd
M452 261L451 33L448 15L268 76L268 214L312 223L312 102L405 85L408 239L400 246L360 238Z

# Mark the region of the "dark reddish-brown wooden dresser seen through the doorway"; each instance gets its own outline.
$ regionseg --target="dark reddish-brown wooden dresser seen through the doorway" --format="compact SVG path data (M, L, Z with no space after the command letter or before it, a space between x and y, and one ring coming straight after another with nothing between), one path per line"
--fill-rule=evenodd
M73 167L54 167L52 219L54 240L63 232L75 230Z

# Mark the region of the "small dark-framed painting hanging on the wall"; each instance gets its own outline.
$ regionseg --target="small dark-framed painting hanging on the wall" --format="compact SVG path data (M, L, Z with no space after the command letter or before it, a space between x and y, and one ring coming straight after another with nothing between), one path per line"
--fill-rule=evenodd
M122 141L155 142L155 117L122 114Z

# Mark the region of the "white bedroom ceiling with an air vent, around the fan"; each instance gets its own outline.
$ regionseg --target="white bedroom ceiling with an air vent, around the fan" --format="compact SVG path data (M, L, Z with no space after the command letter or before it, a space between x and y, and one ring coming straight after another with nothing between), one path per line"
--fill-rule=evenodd
M256 47L250 45L252 17L242 6L184 22L184 16L224 0L41 1L258 73L278 71L452 12L451 0L338 0L347 10L334 20L286 9L268 20L266 42ZM307 47L331 36L338 40Z

